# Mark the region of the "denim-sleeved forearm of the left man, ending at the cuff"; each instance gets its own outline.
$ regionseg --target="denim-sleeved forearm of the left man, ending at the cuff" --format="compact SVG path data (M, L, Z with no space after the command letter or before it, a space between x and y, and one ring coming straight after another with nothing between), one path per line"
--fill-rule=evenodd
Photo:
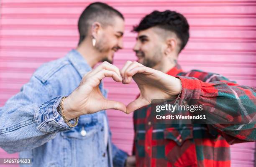
M21 105L13 99L0 108L0 147L9 153L33 149L71 129L56 111L60 98L41 105Z

